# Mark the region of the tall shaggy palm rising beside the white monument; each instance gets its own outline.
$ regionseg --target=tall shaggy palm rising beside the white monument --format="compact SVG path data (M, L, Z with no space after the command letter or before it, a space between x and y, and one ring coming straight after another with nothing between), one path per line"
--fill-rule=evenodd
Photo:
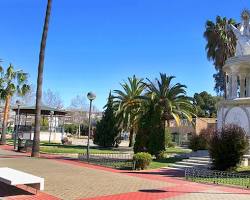
M235 25L233 19L227 19L226 17L216 17L216 21L208 20L206 22L206 30L204 32L204 38L207 41L206 51L208 60L212 60L217 70L214 74L215 78L215 90L217 93L224 92L225 90L225 74L222 71L222 67L225 61L234 56L236 49L236 37L231 30L227 27L229 24Z

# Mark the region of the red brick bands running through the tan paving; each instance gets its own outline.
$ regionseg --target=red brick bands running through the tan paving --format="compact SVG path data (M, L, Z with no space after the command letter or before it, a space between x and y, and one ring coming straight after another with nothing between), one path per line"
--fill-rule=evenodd
M1 149L4 150L12 150L13 147L5 145L0 146ZM27 156L27 153L22 154L23 156ZM20 156L22 156L20 155ZM0 158L12 158L12 157L19 157L18 155L13 156L0 156ZM159 188L157 190L143 190L143 191L136 191L124 194L114 194L108 196L100 196L94 198L82 198L81 200L159 200L159 199L166 199L170 197L182 196L188 193L194 192L203 192L209 189L216 189L218 191L223 192L231 192L237 194L249 194L249 190L243 190L239 188L232 188L232 187L224 187L224 186L215 186L215 185L208 185L208 184L198 184L193 182L188 182L183 179L178 179L176 176L182 176L182 174L178 174L176 171L173 170L166 170L166 169L159 169L159 170L146 170L143 172L131 172L131 171L121 171L111 168L106 168L102 166L95 166L90 165L87 163L82 163L76 160L67 160L62 156L56 155L49 155L49 154L41 154L42 158L46 159L53 159L57 162L68 163L72 165L98 169L109 171L113 173L123 173L128 176L136 176L140 178L150 179L150 180L158 180L168 183L174 183L175 186L167 187L167 188ZM33 191L34 192L34 191ZM7 186L5 184L0 184L0 197L7 197L7 200L57 200L58 198L53 197L49 194L38 192L37 194L33 194L30 192L30 189L26 189L25 186L13 187ZM115 191L114 191L115 193ZM250 197L249 197L250 198Z

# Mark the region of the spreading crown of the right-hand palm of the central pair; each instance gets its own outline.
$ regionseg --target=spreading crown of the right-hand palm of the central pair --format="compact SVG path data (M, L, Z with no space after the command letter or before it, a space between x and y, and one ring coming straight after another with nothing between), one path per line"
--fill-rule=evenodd
M192 117L195 115L192 99L186 95L186 86L180 83L172 84L174 78L161 73L160 80L156 79L155 83L147 79L149 81L147 95L151 97L155 106L160 108L164 130L166 122L169 127L172 119L179 125L183 118L192 122Z

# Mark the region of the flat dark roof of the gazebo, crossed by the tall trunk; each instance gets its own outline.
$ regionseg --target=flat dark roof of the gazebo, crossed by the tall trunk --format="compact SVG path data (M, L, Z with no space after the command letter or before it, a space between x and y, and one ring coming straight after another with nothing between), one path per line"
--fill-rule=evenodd
M12 110L17 112L18 108L15 107ZM42 115L50 115L51 111L54 112L54 115L66 115L67 114L67 112L65 110L59 110L59 109L52 108L52 107L45 106L45 105L41 106L41 114ZM20 106L20 114L34 115L35 113L36 113L35 106Z

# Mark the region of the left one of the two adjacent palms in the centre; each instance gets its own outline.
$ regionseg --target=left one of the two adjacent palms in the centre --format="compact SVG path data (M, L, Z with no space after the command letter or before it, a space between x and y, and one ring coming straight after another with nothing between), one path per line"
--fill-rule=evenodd
M117 107L117 116L120 119L122 128L129 131L129 147L134 144L134 135L136 133L138 116L141 110L143 100L142 93L145 89L143 79L129 77L128 82L121 84L122 90L114 90L114 105Z

